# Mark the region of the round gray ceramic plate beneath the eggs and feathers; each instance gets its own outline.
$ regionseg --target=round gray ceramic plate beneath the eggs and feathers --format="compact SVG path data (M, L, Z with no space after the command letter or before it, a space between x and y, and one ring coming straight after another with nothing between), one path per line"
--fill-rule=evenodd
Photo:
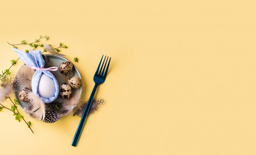
M51 66L57 66L57 67L58 67L58 66L60 66L60 64L61 64L62 62L69 61L69 60L67 60L66 58L63 58L63 57L57 56L57 55L50 55L50 54L47 54L47 57L49 58L49 60L50 60L50 62L51 62ZM72 76L78 76L79 78L81 78L81 75L80 75L78 69L76 68L76 66L74 66L74 64L73 64L72 73L73 73ZM60 73L59 71L54 71L53 74L54 74L56 80L58 81L58 78L60 78L61 73ZM82 78L81 78L81 79L82 79ZM58 83L58 85L60 86L61 83ZM20 90L21 90L22 88L19 87L18 82L15 82L15 83L13 84L13 88L15 88L15 89L14 89L15 98L18 100L18 103L19 103L20 107L21 107L22 109L24 109L24 107L25 107L27 104L26 104L25 102L22 102L22 101L19 99L19 92L20 92ZM80 94L80 96L81 96L81 94ZM57 98L55 101L58 102L59 100L61 100L61 96L58 96L58 98Z

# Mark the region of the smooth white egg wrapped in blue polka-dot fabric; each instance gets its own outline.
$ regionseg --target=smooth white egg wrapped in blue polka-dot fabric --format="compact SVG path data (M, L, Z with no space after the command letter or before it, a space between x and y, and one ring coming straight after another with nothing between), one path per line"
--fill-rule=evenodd
M52 78L48 77L45 74L42 74L41 79L38 84L38 94L40 97L49 99L54 96L55 85Z

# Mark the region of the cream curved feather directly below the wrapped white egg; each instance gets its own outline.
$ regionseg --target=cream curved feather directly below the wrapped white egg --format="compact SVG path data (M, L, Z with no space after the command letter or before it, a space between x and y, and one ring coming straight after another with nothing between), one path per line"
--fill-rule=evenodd
M40 99L40 97L33 92L28 94L29 109L25 109L27 113L37 120L45 120L45 103Z

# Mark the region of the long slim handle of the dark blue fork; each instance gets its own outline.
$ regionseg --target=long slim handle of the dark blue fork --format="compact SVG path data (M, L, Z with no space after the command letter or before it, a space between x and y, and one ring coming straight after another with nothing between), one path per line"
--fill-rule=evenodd
M93 97L95 95L95 92L96 92L96 89L97 89L98 86L99 86L99 84L95 83L94 88L92 89L92 93L91 93L90 98L88 100L88 103L87 103L87 105L85 107L85 111L83 112L83 116L82 116L82 118L80 120L80 123L79 123L79 125L77 127L76 133L74 135L74 138L73 138L73 141L72 141L72 144L71 144L72 146L76 146L77 145L77 142L78 142L79 137L80 137L80 135L82 133L82 130L83 130L83 126L85 124L86 117L87 117L88 112L90 110L90 107L92 105Z

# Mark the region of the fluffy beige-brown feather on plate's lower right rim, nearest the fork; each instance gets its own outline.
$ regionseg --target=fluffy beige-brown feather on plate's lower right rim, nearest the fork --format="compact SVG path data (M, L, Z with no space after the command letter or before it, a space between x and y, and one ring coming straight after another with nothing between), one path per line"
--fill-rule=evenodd
M80 87L79 89L75 89L73 91L74 92L72 93L72 96L69 99L63 100L62 114L61 114L62 117L72 114L74 108L78 106L79 103L81 102L82 87Z

